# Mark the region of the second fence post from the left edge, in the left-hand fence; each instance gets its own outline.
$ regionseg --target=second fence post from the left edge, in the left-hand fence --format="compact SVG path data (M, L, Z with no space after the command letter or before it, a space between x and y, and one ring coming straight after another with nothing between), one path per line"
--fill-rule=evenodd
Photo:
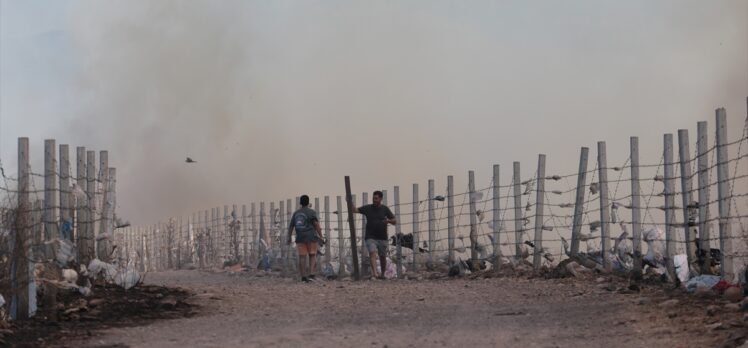
M44 240L50 241L59 238L57 222L60 220L58 214L57 200L57 146L54 139L44 141ZM52 255L45 255L52 258Z

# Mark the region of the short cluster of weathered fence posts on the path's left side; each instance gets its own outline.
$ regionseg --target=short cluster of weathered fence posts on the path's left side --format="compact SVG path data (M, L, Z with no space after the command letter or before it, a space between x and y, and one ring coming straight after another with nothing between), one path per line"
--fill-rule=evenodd
M97 172L96 152L77 147L77 178L74 178L69 151L67 144L60 144L58 148L54 139L44 141L44 199L32 203L31 193L38 193L33 177L40 175L31 171L29 139L18 138L16 209L13 212L9 207L6 214L14 216L3 219L9 224L5 227L13 231L10 234L13 245L10 315L13 319L27 319L31 315L36 304L34 265L55 257L51 245L54 240L73 242L79 264L87 265L94 258L110 261L113 245L106 237L111 236L115 228L117 170L109 167L108 151L99 153ZM101 191L97 191L97 183L101 184ZM10 189L6 187L6 190ZM98 200L102 202L101 207L97 206Z

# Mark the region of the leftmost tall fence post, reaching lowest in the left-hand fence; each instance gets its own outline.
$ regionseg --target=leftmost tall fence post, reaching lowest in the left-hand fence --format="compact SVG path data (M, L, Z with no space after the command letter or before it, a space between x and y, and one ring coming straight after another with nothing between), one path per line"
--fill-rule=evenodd
M16 320L29 318L29 276L33 272L29 263L29 138L18 138L18 208L16 210L11 284L13 298L11 316Z

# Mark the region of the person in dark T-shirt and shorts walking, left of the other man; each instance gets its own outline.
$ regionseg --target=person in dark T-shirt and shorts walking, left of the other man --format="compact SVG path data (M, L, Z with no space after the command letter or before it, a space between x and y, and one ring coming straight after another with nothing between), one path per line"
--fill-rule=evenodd
M314 279L313 270L317 269L317 238L324 241L322 228L319 226L317 212L309 208L309 196L303 195L299 199L301 208L293 213L288 226L288 244L291 235L296 230L296 248L299 252L299 273L301 281L309 282ZM309 270L306 269L306 259L309 256Z

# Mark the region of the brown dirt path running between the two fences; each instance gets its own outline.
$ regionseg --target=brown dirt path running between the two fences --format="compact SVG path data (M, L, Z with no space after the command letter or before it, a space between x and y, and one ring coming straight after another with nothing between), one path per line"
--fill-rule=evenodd
M85 345L715 347L728 336L742 342L735 337L745 333L745 326L707 328L709 323L744 322L742 313L707 316L704 300L681 299L678 306L664 307L659 303L667 297L658 297L659 290L621 294L594 280L302 284L178 271L150 274L148 282L190 289L196 293L191 301L202 307L202 314L109 329Z

